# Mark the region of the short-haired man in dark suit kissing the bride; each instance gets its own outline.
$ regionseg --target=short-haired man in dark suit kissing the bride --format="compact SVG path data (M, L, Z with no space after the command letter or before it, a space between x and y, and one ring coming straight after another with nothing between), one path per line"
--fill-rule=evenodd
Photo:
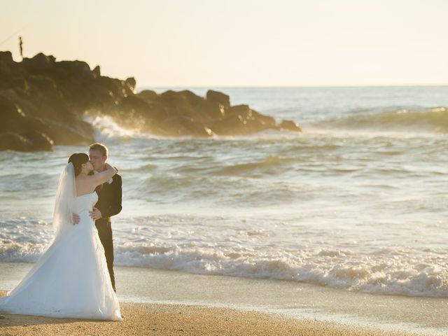
M97 172L103 172L108 156L108 149L103 144L92 144L89 147L90 162L92 162L93 169ZM111 276L113 290L115 288L115 276L113 274L113 241L111 216L119 214L121 207L121 176L115 174L112 179L106 183L97 186L95 191L98 194L98 202L94 205L93 211L90 211L90 217L95 221L95 226L98 229L99 240L104 246L104 253L106 254L107 268ZM79 222L79 217L73 215L73 223Z

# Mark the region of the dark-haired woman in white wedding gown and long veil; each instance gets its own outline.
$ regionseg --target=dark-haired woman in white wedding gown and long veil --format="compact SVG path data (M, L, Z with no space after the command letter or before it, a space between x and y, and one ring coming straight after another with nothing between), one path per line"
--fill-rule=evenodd
M0 297L0 311L10 314L121 321L104 248L89 211L94 189L116 169L92 174L85 153L74 153L59 178L53 227L55 236L20 283ZM80 216L73 225L73 213Z

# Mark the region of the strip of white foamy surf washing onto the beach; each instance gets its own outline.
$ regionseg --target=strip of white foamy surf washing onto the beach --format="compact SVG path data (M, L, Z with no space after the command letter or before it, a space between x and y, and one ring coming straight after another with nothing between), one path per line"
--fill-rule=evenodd
M265 232L240 234L253 237ZM172 244L169 239L150 242L142 232L138 237L130 234L125 239L120 232L116 239L116 265L300 281L372 294L448 297L447 251L422 253L412 248L381 248L360 255L349 248L285 251L248 248L232 241L207 244L188 237L180 239L188 241L184 244ZM3 235L0 261L35 262L49 240L50 235L34 241L6 239Z

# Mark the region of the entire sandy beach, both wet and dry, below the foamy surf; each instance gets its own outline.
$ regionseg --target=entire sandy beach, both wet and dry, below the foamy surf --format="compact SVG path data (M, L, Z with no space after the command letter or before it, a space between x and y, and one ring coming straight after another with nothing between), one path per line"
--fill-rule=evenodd
M0 262L0 296L30 263ZM0 335L447 335L447 300L116 267L123 321L1 313ZM343 304L341 303L343 302Z

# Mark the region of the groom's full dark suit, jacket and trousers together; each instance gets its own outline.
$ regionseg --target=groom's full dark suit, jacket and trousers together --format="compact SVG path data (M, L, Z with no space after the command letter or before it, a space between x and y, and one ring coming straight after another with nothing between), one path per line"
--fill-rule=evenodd
M121 207L121 176L115 174L113 176L112 183L106 182L101 186L97 186L95 191L98 194L98 202L95 204L95 208L99 209L102 214L102 218L95 221L95 226L98 229L99 240L101 240L104 246L104 252L106 254L107 268L111 275L111 282L113 290L115 288L115 276L113 275L113 241L112 241L112 228L111 228L111 216L118 214Z

